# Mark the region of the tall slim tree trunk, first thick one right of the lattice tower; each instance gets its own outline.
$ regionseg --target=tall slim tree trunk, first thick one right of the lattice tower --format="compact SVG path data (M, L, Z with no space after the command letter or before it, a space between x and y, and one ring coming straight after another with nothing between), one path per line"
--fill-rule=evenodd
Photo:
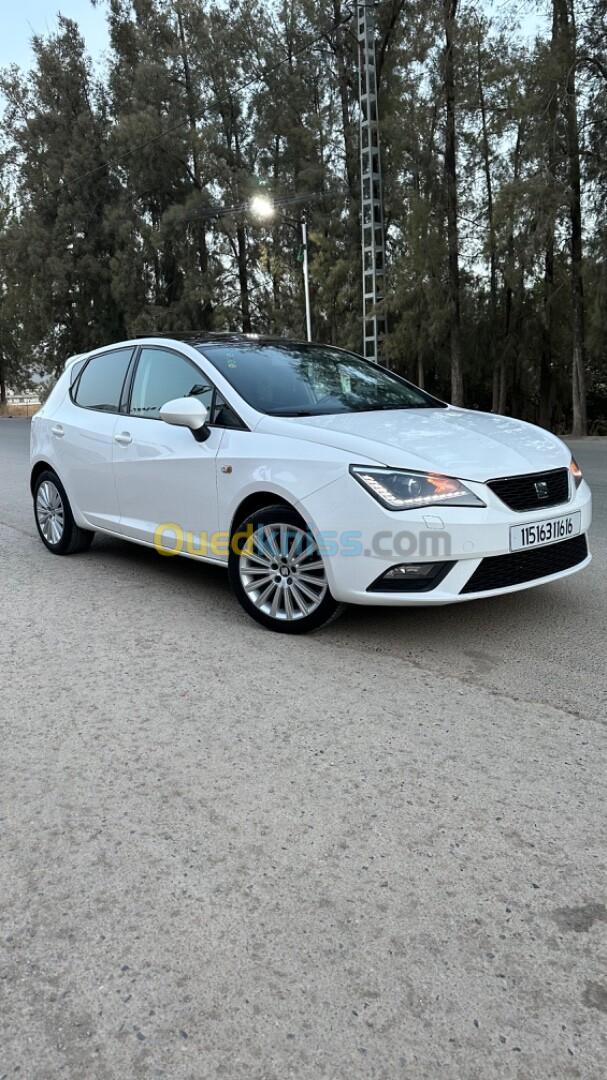
M444 93L445 188L447 201L449 350L451 359L451 402L463 405L463 369L461 362L461 301L459 284L459 237L457 210L457 143L455 105L454 35L458 0L443 0L445 22Z

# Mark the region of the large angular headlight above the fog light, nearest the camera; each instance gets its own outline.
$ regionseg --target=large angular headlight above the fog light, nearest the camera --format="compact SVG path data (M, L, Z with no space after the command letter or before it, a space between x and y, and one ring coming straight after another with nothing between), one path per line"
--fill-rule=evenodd
M453 476L400 469L365 469L364 465L350 465L350 472L388 510L485 505L470 488Z

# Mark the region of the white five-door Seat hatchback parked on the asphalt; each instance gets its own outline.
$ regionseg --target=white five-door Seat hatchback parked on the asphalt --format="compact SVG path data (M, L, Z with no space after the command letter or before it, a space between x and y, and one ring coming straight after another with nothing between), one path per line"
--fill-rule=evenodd
M283 339L72 357L32 420L31 491L50 551L98 531L220 564L245 610L287 633L343 604L496 596L591 559L591 494L555 435Z

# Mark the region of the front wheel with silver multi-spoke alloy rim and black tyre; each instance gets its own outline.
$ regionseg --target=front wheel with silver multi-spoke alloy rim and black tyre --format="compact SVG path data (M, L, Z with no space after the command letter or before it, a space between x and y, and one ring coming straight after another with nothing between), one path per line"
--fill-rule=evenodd
M256 622L280 634L306 634L342 610L306 523L291 507L258 510L235 530L228 570L232 589Z

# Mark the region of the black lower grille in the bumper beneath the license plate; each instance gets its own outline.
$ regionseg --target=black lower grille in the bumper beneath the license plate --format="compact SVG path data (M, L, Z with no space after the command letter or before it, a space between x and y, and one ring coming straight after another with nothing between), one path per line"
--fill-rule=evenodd
M513 551L510 555L490 555L476 567L462 593L483 593L490 589L507 589L525 581L548 578L559 570L568 570L583 563L588 555L585 536L572 537L559 543L532 551Z

